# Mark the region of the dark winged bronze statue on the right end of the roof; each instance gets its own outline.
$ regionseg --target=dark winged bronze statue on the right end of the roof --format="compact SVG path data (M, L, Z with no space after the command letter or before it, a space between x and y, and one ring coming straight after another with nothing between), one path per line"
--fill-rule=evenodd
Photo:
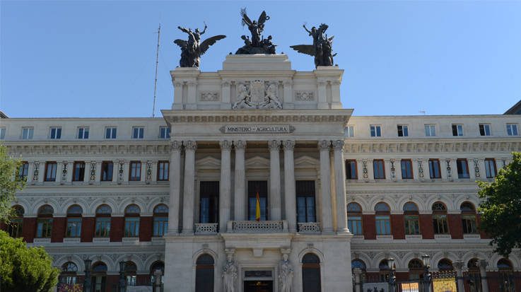
M311 30L303 25L304 29L313 38L313 45L293 45L290 46L295 51L302 54L309 54L315 57L315 67L317 66L333 66L333 37L327 37L325 33L328 26L322 23L319 28L313 26Z

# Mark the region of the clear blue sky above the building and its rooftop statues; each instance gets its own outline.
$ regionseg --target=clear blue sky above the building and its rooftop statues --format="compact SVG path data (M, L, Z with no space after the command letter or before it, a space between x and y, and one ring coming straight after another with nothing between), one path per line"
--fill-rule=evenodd
M149 117L161 23L158 102L170 108L177 25L226 39L201 59L221 69L242 46L240 8L293 69L313 59L303 23L329 25L355 115L500 114L521 99L521 1L1 1L0 109L10 117Z

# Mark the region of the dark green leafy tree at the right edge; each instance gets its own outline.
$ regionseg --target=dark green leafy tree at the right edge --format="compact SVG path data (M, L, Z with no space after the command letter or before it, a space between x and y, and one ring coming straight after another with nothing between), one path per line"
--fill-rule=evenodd
M494 252L508 257L521 248L521 152L499 170L493 182L478 182L481 211L480 229L491 236Z

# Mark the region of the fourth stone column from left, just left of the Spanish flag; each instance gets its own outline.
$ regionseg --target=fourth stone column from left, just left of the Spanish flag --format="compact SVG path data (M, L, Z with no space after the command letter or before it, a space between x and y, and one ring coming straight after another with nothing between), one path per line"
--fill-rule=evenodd
M233 141L235 146L235 221L246 220L246 141Z

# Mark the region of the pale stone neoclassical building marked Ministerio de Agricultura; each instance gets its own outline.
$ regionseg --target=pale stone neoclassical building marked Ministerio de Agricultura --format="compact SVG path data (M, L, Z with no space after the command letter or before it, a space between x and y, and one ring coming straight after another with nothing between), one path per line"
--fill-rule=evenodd
M476 180L521 151L520 116L352 116L342 74L229 55L171 71L162 118L2 118L28 182L3 227L96 292L156 269L168 292L356 291L352 268L385 277L392 257L414 280L426 254L431 271L518 271L479 233Z

